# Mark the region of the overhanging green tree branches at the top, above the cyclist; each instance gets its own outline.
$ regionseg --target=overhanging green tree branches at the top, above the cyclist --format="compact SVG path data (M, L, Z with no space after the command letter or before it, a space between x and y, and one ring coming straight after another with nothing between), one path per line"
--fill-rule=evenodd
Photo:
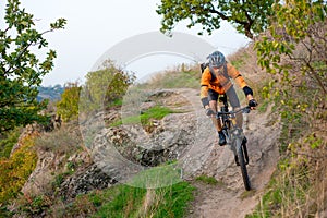
M202 24L203 31L211 34L220 27L221 21L227 21L233 24L239 33L253 38L254 34L267 27L274 3L275 0L161 0L157 13L164 15L164 33L171 32L177 23L190 20L189 28Z

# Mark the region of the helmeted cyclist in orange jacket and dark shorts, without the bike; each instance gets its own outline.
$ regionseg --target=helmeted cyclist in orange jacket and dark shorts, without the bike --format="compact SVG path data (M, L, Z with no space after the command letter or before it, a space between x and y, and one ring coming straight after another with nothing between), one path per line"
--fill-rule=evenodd
M233 78L235 83L243 89L251 109L255 109L257 102L253 98L252 89L246 85L240 72L225 59L220 51L215 51L207 57L207 66L204 69L201 78L201 100L205 112L211 118L213 123L218 132L219 145L226 145L226 137L221 131L221 122L216 119L217 100L219 95L228 97L233 110L240 108L240 101L235 89L230 81ZM243 116L237 114L237 125L242 128Z

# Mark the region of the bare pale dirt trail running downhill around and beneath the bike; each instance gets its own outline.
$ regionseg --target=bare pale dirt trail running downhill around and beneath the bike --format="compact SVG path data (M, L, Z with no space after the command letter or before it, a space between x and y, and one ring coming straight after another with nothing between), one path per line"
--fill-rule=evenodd
M263 189L268 183L278 160L277 138L279 122L265 113L253 111L244 119L250 164L247 167L253 191L245 192L241 170L233 161L227 146L218 146L216 131L201 106L198 90L177 89L185 96L196 111L197 141L184 157L184 179L205 174L215 177L219 185L193 182L197 186L190 218L243 218L257 205ZM247 120L247 121L246 121Z

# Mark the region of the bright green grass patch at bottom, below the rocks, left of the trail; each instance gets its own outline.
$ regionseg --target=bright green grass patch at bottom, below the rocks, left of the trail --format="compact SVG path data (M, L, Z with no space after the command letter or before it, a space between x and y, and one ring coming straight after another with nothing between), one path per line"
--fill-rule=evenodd
M60 184L62 178L57 178L56 182ZM50 207L36 204L33 210L39 214L45 208L47 216L58 218L182 218L194 199L194 190L189 182L180 179L178 164L169 161L142 171L130 183L93 190L73 199L57 197Z

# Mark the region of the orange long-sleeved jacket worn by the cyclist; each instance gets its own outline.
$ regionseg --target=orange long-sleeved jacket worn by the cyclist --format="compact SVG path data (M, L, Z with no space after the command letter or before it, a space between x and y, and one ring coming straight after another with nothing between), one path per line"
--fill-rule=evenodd
M243 88L246 83L240 72L230 63L227 63L227 74L230 78L233 78L237 84ZM231 86L230 78L225 76L223 68L215 70L216 80L211 81L210 69L207 66L201 77L201 98L208 97L208 90L213 89L218 94L225 94Z

